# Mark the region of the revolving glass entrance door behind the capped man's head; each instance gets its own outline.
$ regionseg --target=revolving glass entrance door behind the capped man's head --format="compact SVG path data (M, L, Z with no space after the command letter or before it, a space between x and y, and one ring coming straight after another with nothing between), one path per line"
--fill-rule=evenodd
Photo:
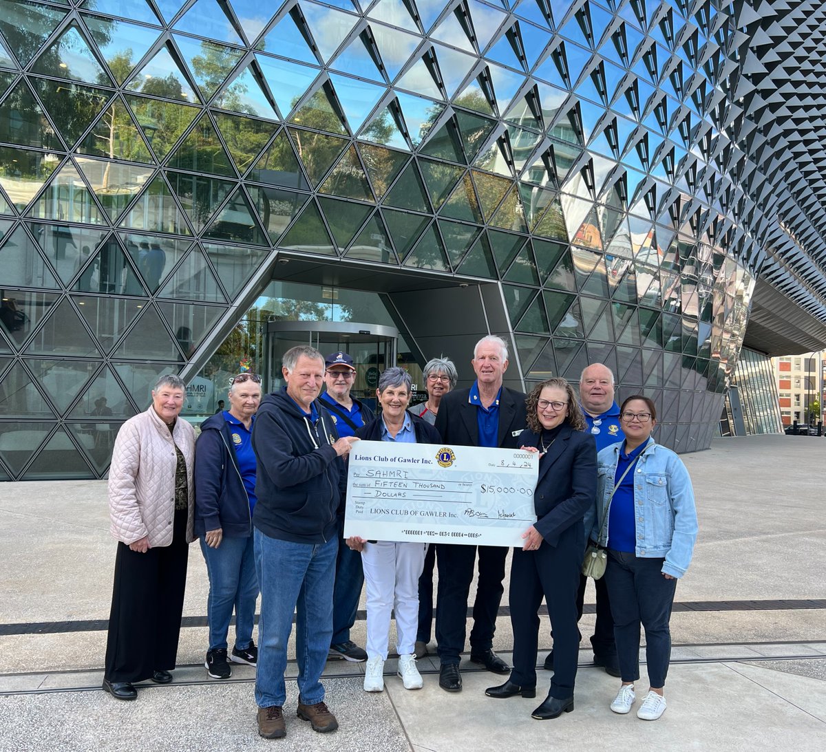
M264 341L264 391L274 391L283 385L281 361L284 353L297 345L309 345L325 357L339 351L352 357L356 377L350 393L375 409L378 376L385 368L396 364L398 336L397 329L378 324L270 321Z

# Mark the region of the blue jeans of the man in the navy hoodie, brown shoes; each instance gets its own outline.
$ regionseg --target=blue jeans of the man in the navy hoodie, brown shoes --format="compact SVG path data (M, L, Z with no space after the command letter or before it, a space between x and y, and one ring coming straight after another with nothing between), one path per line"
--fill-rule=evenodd
M292 543L255 528L255 569L261 584L259 660L255 702L282 707L287 700L284 671L287 641L296 612L299 702L324 700L321 672L333 636L333 582L338 537L326 543Z

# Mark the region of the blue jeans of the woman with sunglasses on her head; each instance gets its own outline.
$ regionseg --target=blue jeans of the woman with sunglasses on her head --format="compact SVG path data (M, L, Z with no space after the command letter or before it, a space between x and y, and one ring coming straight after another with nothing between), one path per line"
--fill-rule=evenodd
M224 538L217 548L210 548L201 538L201 551L209 575L207 623L210 650L227 647L226 633L230 629L233 608L235 647L243 650L252 644L255 600L259 594L253 549L252 536Z

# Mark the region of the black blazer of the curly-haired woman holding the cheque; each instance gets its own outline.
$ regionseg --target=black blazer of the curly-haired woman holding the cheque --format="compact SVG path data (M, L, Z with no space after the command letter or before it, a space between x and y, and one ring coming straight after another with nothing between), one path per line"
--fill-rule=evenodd
M520 446L539 447L539 434L526 428ZM590 433L575 431L566 423L539 460L534 527L549 546L556 546L563 532L582 521L595 499L596 442Z

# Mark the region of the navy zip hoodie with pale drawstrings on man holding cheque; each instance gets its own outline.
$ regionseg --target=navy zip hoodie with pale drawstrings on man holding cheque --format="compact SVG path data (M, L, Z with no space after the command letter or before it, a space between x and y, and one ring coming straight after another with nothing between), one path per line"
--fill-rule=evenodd
M282 541L315 544L336 536L347 476L332 447L339 437L335 423L322 402L315 404L314 425L283 386L266 395L255 414L253 524Z

